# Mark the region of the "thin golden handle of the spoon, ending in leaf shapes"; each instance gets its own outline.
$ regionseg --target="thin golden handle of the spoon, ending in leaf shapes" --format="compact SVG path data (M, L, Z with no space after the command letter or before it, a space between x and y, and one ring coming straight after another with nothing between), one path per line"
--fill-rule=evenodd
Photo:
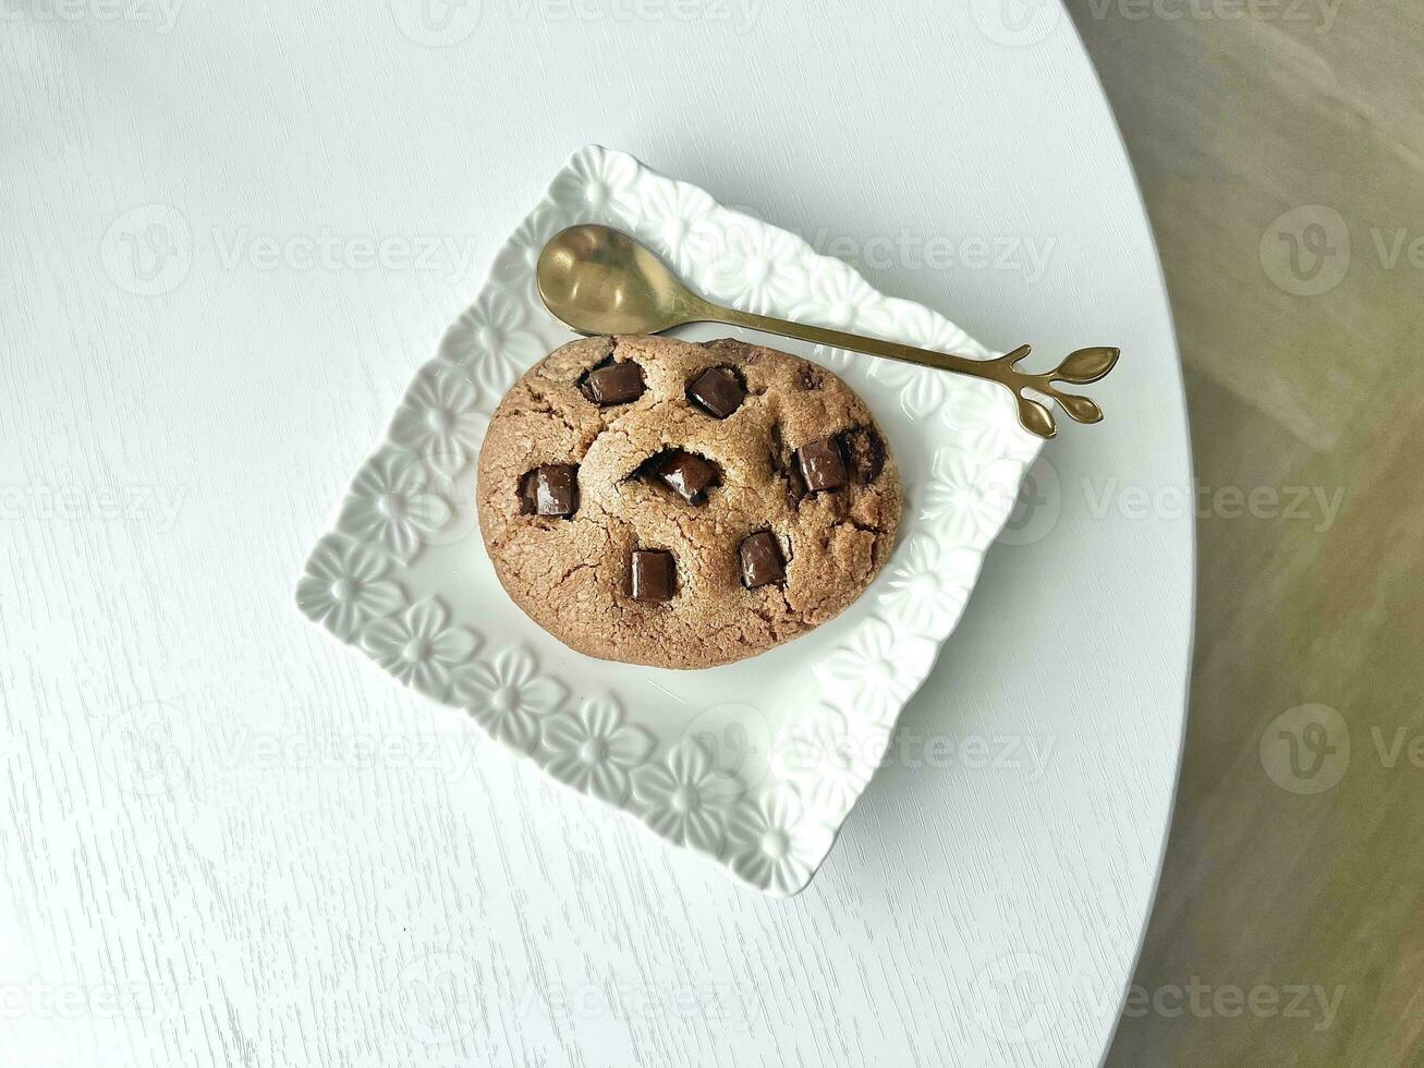
M917 349L913 345L887 342L881 337L864 337L859 333L846 333L844 330L832 330L824 326L810 326L809 323L795 323L787 319L773 319L769 315L742 312L736 308L723 308L706 302L701 303L702 306L698 309L701 315L698 318L705 322L745 326L752 330L762 330L763 333L810 342L812 345L829 345L833 349L864 352L871 356L900 360L901 363L914 363L921 367L934 367L937 370L954 372L956 375L970 375L985 382L995 382L1012 393L1018 402L1018 422L1022 427L1040 437L1052 437L1058 433L1058 426L1054 422L1052 412L1042 402L1025 396L1024 390L1032 390L1057 400L1062 404L1068 417L1078 423L1098 423L1102 420L1102 409L1089 397L1078 393L1062 393L1052 383L1072 382L1084 384L1096 382L1112 370L1119 355L1119 350L1111 346L1078 349L1069 353L1052 370L1042 375L1030 375L1017 369L1017 365L1030 353L1030 346L1027 345L1021 345L1012 352L991 360L975 360L956 353L931 352L928 349Z

